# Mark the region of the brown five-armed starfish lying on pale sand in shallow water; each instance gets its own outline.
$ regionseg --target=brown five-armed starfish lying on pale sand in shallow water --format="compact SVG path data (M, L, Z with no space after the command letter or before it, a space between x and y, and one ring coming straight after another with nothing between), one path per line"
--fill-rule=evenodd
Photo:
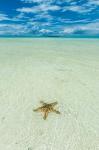
M53 103L45 103L43 101L40 101L40 103L43 105L41 107L38 107L36 109L34 109L34 111L40 111L44 113L43 119L46 120L48 113L50 112L55 112L56 114L60 114L60 112L56 109L54 109L54 106L57 105L57 102L53 102Z

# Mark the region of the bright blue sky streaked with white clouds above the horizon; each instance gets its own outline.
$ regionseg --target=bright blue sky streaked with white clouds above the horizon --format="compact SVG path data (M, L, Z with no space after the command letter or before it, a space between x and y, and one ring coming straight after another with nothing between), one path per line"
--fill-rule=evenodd
M0 36L99 36L99 0L0 0Z

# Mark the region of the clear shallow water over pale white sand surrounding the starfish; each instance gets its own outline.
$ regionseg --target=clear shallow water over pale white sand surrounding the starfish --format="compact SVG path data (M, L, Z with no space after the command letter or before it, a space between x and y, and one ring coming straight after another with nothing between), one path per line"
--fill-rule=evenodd
M98 40L0 39L0 150L99 150Z

